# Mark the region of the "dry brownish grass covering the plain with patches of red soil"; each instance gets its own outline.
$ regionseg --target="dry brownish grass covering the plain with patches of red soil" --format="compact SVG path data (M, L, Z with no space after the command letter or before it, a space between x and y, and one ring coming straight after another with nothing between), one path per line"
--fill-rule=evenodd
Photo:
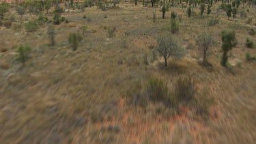
M253 8L248 9L247 16L255 16ZM186 16L186 9L171 8L183 15L175 36L182 46L193 44L195 48L189 48L180 61L169 59L168 68L160 57L145 65L144 55L151 55L155 37L170 24L171 11L162 20L159 10L126 3L105 12L93 7L85 12L63 13L70 23L55 26L53 47L48 46L46 26L33 33L27 33L24 25L16 30L14 25L20 20L10 29L1 27L0 48L7 50L0 51L1 143L254 143L256 65L247 63L244 55L256 55L256 51L244 48L244 43L245 38L256 41L255 36L248 35L255 26L239 16L227 20L221 11L220 23L208 27L216 6L209 17L205 14L203 18L198 8L192 18ZM152 12L156 12L156 23L152 22ZM83 18L85 14L91 20ZM52 14L46 16L51 18ZM23 20L36 17L25 14ZM73 52L68 33L79 31L85 24L87 33ZM116 27L115 36L108 38L104 27ZM223 29L234 29L238 39L229 59L230 68L220 66L218 34ZM212 33L215 40L208 59L212 67L206 68L198 63L195 44L195 36L204 31ZM126 48L120 44L125 33ZM15 51L24 43L32 52L22 67L15 60ZM198 119L189 104L180 106L176 114L159 103L150 102L145 108L130 104L132 87L141 83L135 88L142 89L151 76L165 80L168 89L173 89L180 76L193 77L197 93L207 88L204 96L214 100L209 119Z

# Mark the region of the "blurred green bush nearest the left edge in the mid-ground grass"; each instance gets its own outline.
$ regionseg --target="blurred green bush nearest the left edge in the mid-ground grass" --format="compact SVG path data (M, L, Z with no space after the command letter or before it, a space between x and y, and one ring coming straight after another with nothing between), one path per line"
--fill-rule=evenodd
M23 64L25 64L25 62L29 58L29 53L31 52L31 48L27 44L22 44L18 46L18 48L16 49L16 52L18 53L18 60L20 60Z

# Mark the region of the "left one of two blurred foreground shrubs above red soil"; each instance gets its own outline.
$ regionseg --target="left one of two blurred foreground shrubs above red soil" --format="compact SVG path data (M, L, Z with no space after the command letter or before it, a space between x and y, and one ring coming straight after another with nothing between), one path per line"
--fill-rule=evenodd
M168 96L167 84L160 78L150 78L147 82L146 91L152 100L165 100Z

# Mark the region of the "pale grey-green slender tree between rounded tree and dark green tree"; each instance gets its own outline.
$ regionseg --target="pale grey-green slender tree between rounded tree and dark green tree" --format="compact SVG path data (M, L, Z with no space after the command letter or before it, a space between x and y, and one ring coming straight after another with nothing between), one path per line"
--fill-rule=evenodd
M199 53L203 56L203 65L207 64L207 58L209 49L212 46L212 35L209 33L200 33L196 39L197 45L199 46Z

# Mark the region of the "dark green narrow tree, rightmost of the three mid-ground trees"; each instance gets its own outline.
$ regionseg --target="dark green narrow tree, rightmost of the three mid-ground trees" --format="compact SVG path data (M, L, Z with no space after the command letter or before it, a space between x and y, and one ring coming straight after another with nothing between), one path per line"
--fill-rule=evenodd
M224 30L221 32L221 40L223 42L221 48L223 51L223 57L221 61L222 66L227 66L228 52L236 46L236 33L235 31Z

